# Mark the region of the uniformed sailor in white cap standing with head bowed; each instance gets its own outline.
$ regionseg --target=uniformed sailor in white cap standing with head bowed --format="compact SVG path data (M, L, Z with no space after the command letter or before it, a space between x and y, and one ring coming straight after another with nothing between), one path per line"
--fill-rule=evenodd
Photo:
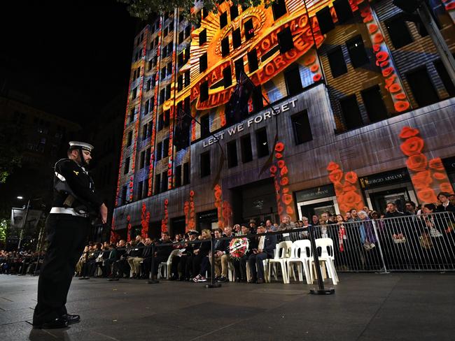
M106 205L95 195L93 180L85 170L92 150L88 143L72 141L68 158L55 164L54 199L46 221L48 250L38 280L35 328L64 328L80 320L66 312L66 296L84 249L89 215L101 215L104 224L107 219Z

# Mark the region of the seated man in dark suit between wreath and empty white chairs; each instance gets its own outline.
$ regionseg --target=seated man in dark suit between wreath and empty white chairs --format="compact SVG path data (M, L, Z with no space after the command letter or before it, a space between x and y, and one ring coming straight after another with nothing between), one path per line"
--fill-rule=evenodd
M260 225L258 226L258 234L262 233L267 233L267 228ZM248 258L251 270L251 280L248 283L264 283L264 264L262 261L273 258L275 246L276 235L260 235L258 248L253 249L253 253Z

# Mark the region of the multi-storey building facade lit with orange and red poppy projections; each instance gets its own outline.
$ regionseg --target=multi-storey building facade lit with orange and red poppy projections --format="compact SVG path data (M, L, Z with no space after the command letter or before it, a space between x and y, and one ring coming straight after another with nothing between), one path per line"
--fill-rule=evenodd
M430 2L454 52L454 1ZM428 34L391 0L194 11L198 25L176 9L136 37L121 235L383 211L453 191L455 87ZM231 100L240 71L255 86L241 117ZM183 133L188 144L175 147Z

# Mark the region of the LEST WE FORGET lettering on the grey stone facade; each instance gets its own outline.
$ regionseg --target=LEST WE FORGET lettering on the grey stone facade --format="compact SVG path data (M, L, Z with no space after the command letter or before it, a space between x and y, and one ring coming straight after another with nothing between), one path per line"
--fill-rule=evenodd
M241 122L239 124L234 124L230 126L228 129L221 131L221 133L214 134L218 140L223 140L224 136L234 136L236 133L241 133L244 129L249 129L251 126L255 124L260 124L260 122L267 121L272 119L274 115L279 115L280 113L286 113L286 111L295 108L295 103L297 102L296 98L290 99L286 102L280 103L278 106L274 106L274 110L271 108L264 110L258 113L255 116L249 117L246 121ZM213 136L207 138L203 142L203 147L209 147L209 145L213 145L216 143L216 138Z

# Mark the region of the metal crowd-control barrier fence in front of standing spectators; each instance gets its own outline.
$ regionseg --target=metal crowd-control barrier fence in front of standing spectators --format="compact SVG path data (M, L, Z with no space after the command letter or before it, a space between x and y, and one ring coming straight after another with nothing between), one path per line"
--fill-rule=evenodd
M455 215L367 219L314 226L332 238L337 271L454 271Z

